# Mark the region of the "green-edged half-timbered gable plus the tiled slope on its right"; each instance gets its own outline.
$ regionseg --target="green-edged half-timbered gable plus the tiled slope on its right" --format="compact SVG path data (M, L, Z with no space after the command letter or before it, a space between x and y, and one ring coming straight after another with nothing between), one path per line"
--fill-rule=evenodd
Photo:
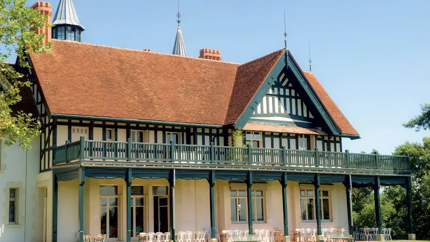
M235 127L243 128L248 121L256 121L260 119L259 121L265 121L269 123L278 121L278 124L280 123L284 125L300 124L304 125L304 127L321 127L325 132L328 131L330 135L350 137L352 139L360 138L358 132L356 132L351 124L347 121L342 112L340 112L340 110L334 104L333 100L329 98L328 94L322 87L320 88L321 84L319 84L316 78L312 81L313 83L311 84L294 60L291 53L289 51L286 52L269 73L264 84L261 85L261 88L258 89L257 93L250 102L250 105L237 119ZM279 97L280 90L283 89L281 86L284 84L286 85L283 94L285 98L285 109L283 110L284 113L282 114ZM313 85L317 88L317 90L314 89ZM287 89L288 92L285 94ZM292 89L294 89L294 95L292 95ZM275 91L277 92L276 94ZM278 98L274 99L274 94ZM272 97L271 100L270 97ZM286 105L287 100L290 101L291 105ZM299 100L301 101L299 102ZM293 104L295 104L295 107L293 107ZM272 105L272 107L270 105ZM264 107L266 107L266 113L264 112ZM305 107L306 111L304 110ZM272 113L268 111L271 108ZM268 116L270 118L268 118ZM301 122L297 122L299 120L295 121L292 119L292 117L301 119ZM341 129L338 123L340 123L344 129Z

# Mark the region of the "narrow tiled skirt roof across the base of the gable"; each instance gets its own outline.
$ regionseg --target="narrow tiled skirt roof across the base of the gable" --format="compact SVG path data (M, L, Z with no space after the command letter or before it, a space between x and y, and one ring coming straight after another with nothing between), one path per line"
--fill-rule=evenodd
M320 129L301 128L301 127L282 126L282 125L255 124L255 123L247 123L245 127L243 127L243 130L277 132L277 133L301 133L301 134L327 135L326 132L323 132Z

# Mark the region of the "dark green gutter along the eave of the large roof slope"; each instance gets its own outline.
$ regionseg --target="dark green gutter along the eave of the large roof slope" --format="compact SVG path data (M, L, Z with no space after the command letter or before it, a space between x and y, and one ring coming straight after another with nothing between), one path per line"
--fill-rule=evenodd
M135 118L114 118L114 117L61 114L61 113L51 113L51 116L52 118L56 118L56 119L73 119L73 120L100 121L100 122L154 124L154 125L167 125L167 126L190 126L190 127L201 127L201 128L222 128L223 127L223 125L218 125L218 124L196 124L196 123L169 122L169 121L157 121L157 120L146 120L146 119L135 119Z

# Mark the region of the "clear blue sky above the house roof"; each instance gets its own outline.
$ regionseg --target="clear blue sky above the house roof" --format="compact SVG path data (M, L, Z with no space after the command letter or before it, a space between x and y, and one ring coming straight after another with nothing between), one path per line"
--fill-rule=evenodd
M73 1L83 42L172 52L176 0ZM362 137L344 149L391 154L430 136L402 127L430 103L428 0L181 0L187 53L214 48L244 63L280 49L284 9L288 48L308 70L310 39L313 73Z

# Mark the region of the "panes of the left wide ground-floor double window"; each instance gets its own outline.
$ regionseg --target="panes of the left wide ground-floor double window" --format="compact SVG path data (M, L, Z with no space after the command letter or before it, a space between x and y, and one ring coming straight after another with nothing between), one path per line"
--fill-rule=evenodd
M264 222L264 193L252 191L252 220ZM246 191L230 191L231 219L234 223L248 221Z

